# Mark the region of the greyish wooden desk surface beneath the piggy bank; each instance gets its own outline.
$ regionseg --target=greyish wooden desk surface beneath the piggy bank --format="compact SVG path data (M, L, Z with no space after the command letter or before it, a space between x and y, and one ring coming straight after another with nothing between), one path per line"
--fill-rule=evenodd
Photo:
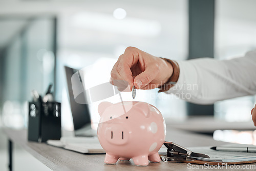
M14 143L25 148L26 151L52 170L191 170L186 163L164 163L162 161L160 163L150 163L144 167L134 165L132 160L118 161L115 165L108 165L103 162L104 155L83 155L45 143L29 142L27 140L27 130L4 129L4 132ZM166 140L185 147L224 144L213 140L210 136L172 129L168 125ZM27 164L29 164L29 161Z

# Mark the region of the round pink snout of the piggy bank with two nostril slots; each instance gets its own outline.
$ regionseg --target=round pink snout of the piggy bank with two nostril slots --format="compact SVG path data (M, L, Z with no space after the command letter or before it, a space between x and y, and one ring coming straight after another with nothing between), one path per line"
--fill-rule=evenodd
M129 139L129 132L122 124L113 124L105 131L105 139L115 145L125 144Z

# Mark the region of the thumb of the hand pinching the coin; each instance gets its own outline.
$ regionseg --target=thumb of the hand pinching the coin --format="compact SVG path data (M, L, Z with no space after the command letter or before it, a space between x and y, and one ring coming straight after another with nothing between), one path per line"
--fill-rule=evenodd
M155 77L156 72L154 70L145 70L134 78L134 86L136 89L141 89L150 83Z

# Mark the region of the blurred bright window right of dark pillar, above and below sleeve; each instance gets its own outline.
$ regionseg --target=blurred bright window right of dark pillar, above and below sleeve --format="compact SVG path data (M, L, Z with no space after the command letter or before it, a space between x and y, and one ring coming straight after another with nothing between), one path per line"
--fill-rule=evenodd
M215 57L230 59L256 48L256 1L217 0ZM250 121L255 96L215 103L215 116L229 122Z

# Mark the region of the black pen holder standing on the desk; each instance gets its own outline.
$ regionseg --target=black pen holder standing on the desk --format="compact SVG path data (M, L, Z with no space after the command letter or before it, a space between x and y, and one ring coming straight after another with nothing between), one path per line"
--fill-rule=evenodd
M60 103L29 102L28 140L45 142L61 137Z

